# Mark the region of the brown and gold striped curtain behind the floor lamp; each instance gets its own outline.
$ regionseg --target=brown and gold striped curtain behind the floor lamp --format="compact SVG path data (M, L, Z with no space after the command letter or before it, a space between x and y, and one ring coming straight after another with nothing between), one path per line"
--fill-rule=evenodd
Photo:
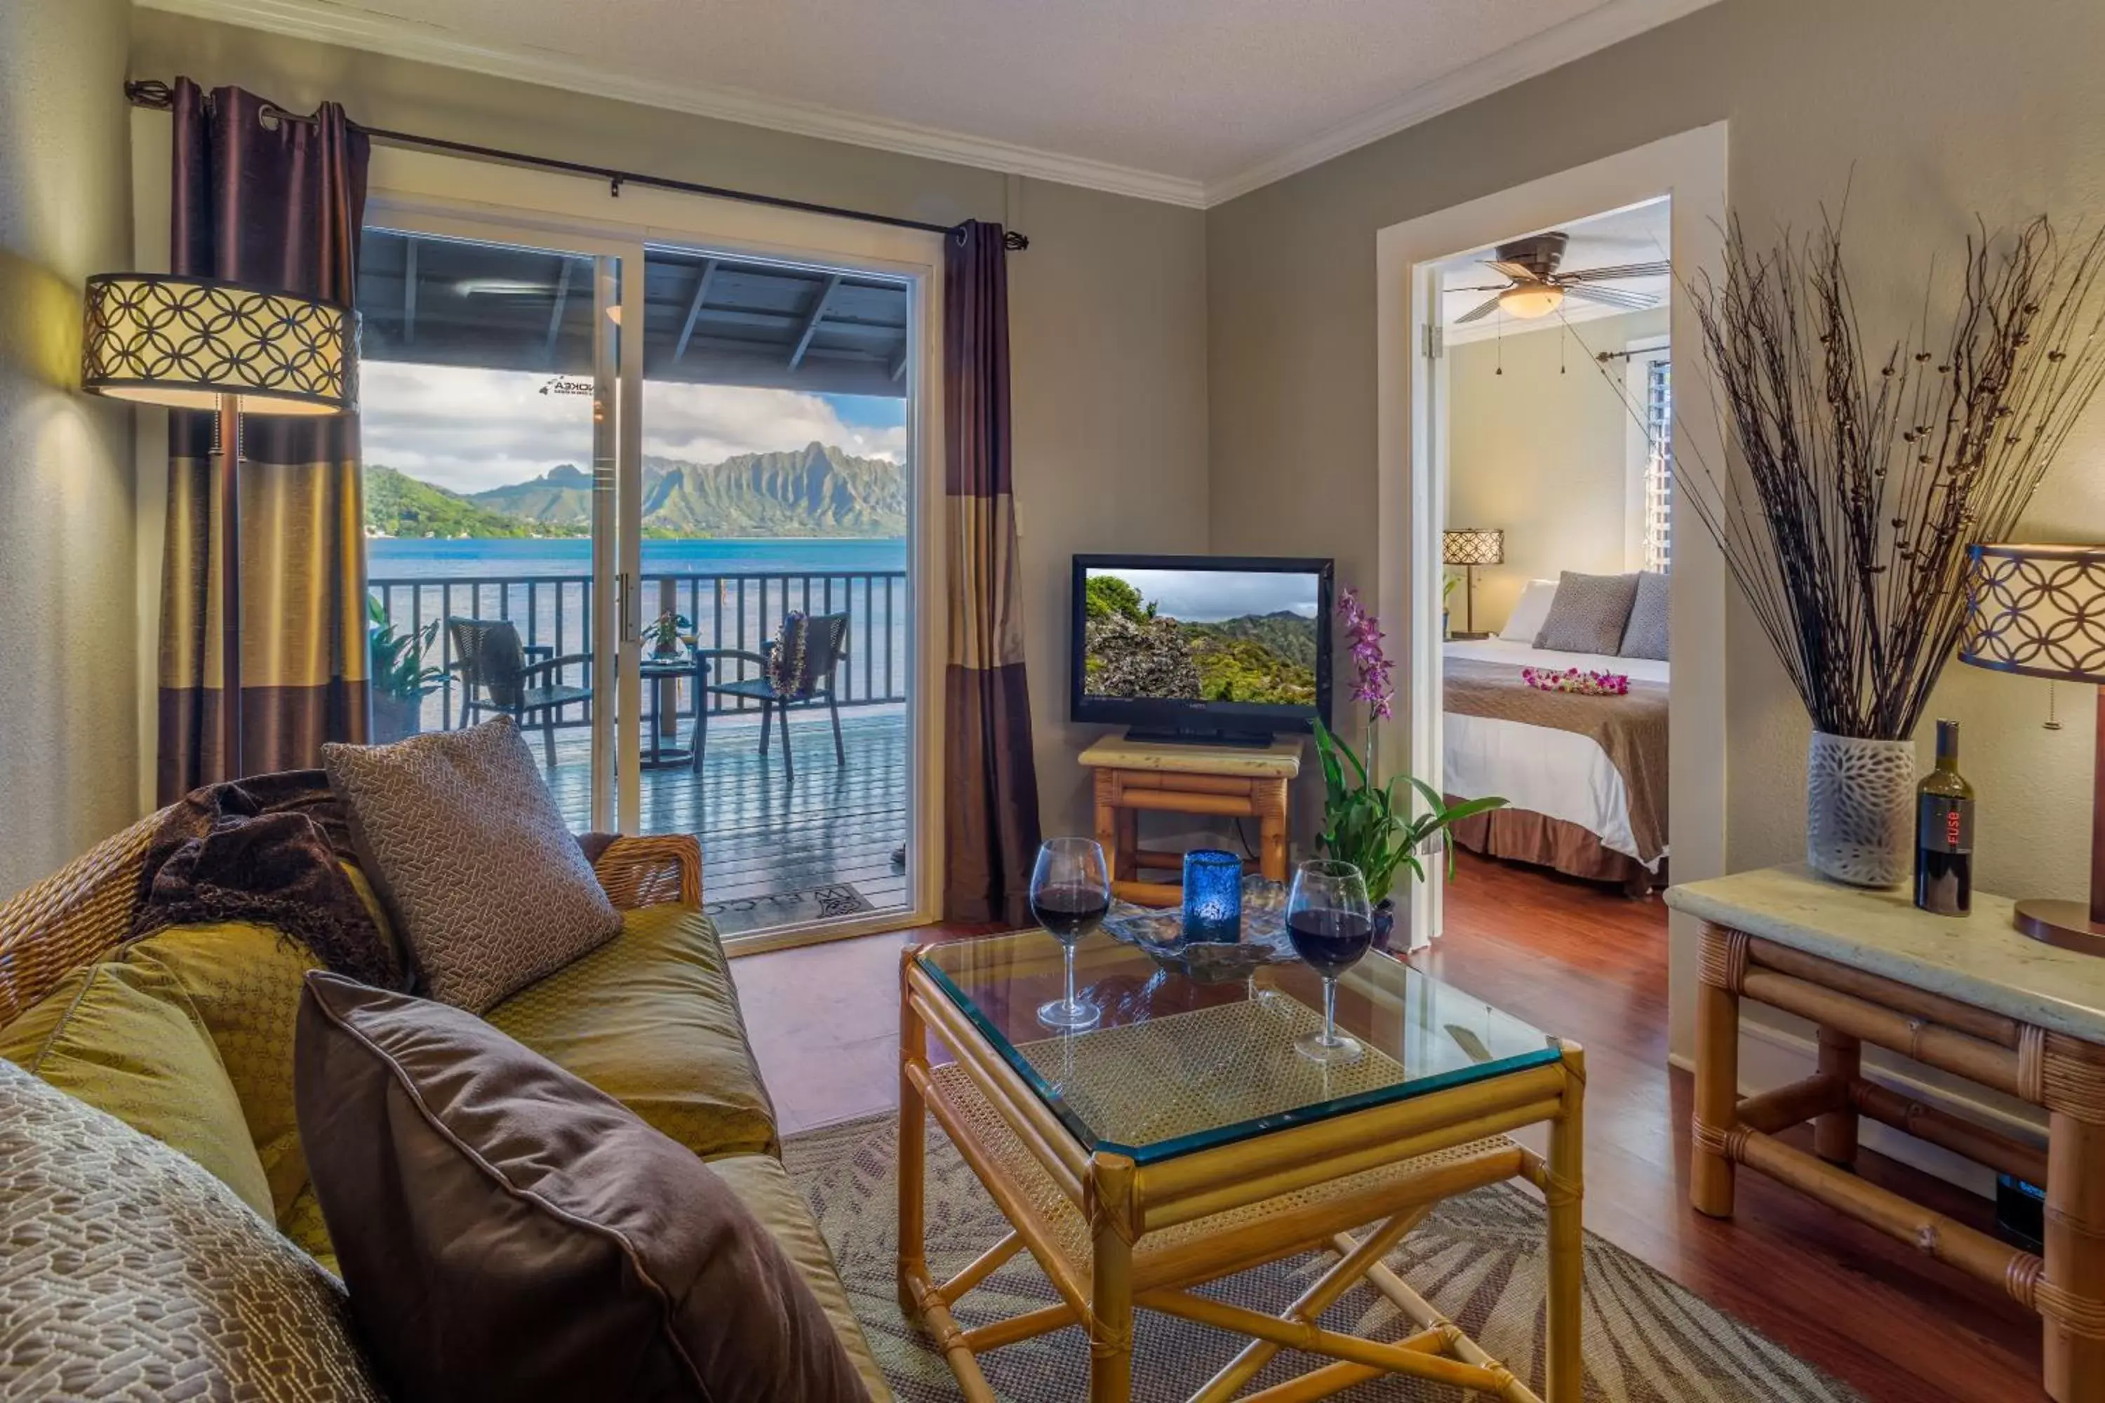
M171 269L354 305L366 206L364 133L255 93L175 82ZM160 799L223 778L213 416L168 419L160 587ZM366 543L358 416L242 423L242 759L320 764L366 738Z

